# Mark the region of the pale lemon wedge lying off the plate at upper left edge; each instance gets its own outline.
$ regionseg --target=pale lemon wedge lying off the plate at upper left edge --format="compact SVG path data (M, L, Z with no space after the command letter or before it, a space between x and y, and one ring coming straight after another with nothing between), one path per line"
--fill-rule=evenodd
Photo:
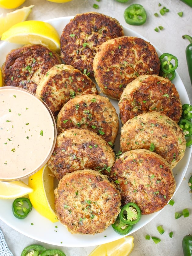
M10 27L15 25L16 23L25 21L29 16L32 8L34 5L30 5L27 7L23 7L21 9L17 9L13 12L7 13L4 17L3 15L0 16L0 37L2 34L7 31Z

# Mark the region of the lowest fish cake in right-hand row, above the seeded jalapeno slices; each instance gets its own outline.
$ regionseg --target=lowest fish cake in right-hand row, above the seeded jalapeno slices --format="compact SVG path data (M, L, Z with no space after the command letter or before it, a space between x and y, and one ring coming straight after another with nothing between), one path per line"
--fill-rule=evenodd
M176 182L167 161L149 150L123 153L112 168L110 177L116 181L122 205L136 203L142 214L161 210L175 192Z

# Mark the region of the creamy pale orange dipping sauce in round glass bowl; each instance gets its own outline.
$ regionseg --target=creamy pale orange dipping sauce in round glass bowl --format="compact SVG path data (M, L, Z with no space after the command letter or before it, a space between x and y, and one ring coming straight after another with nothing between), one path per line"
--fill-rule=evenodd
M48 106L17 87L0 88L0 180L26 178L51 156L56 125Z

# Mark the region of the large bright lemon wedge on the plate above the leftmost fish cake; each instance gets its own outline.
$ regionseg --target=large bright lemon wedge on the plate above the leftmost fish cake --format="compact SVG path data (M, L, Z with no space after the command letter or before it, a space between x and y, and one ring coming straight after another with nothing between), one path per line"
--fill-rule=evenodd
M56 29L47 22L27 20L13 25L2 34L1 40L16 44L41 44L59 51L60 38Z

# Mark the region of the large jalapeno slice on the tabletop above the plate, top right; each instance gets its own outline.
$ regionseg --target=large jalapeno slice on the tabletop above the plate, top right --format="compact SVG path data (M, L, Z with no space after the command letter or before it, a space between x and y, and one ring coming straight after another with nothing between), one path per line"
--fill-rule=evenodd
M140 4L132 4L124 11L124 19L130 25L142 25L147 20L147 13Z

